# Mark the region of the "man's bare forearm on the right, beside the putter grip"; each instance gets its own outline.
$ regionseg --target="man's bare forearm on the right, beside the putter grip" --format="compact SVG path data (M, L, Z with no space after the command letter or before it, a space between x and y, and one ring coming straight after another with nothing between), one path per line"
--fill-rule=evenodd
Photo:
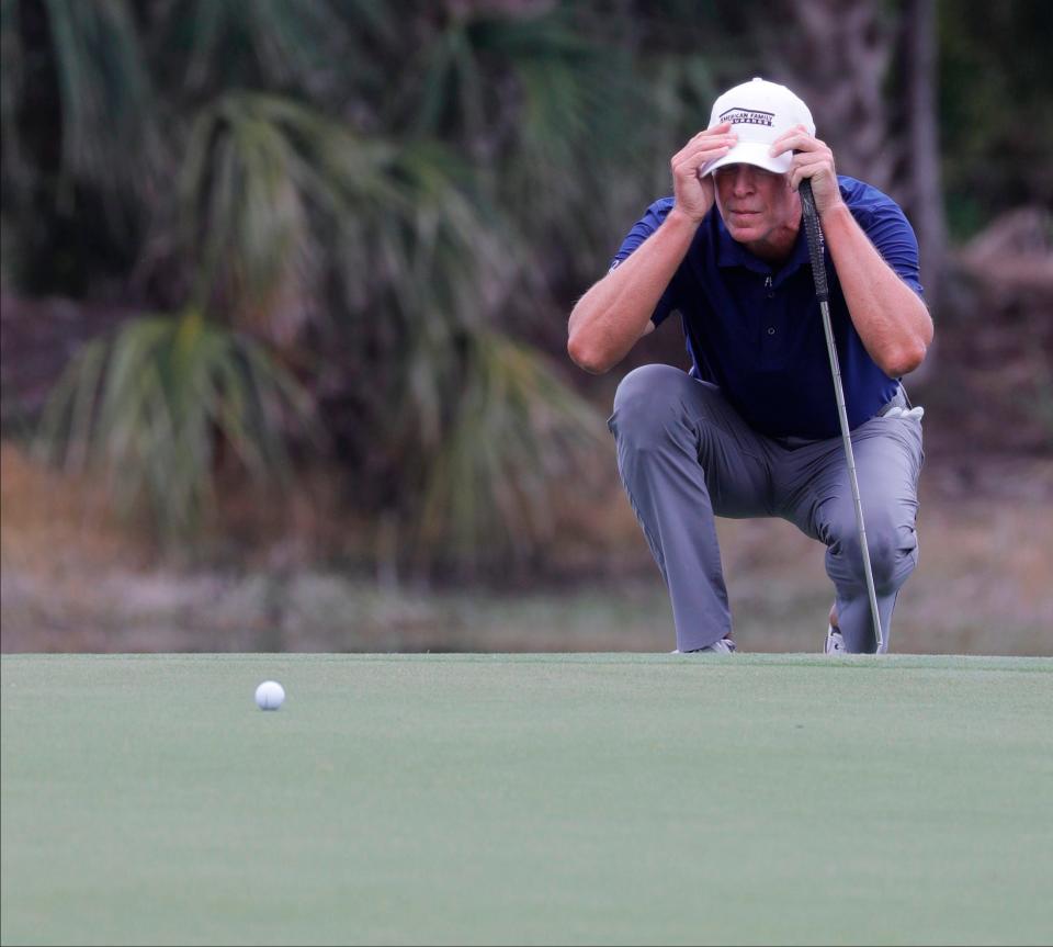
M845 204L823 215L845 302L870 357L890 377L914 371L932 341L925 303L878 252Z

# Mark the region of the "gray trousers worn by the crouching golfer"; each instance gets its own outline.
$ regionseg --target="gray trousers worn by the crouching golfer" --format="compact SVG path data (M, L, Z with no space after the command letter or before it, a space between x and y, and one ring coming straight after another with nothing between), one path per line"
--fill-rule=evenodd
M625 376L609 427L622 483L669 589L680 651L732 630L714 516L781 517L824 543L846 650L876 650L840 436L759 435L716 386L664 364ZM875 417L851 436L887 641L896 595L918 560L921 422Z

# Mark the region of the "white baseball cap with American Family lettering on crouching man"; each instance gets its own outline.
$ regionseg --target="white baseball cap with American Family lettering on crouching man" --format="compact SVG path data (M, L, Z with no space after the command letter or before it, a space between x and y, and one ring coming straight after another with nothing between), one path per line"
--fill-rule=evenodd
M724 165L756 165L777 174L790 170L791 155L785 153L772 158L768 153L772 143L794 125L804 125L809 135L815 134L815 122L808 106L785 86L754 79L728 89L713 103L710 127L731 122L738 142L723 158L710 161L702 168L703 174L712 174Z

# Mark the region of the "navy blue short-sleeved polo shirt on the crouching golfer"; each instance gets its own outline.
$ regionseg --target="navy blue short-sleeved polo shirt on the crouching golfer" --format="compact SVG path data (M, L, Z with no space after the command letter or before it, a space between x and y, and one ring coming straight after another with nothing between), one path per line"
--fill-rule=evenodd
M918 295L918 241L899 206L876 188L839 176L841 198L878 252ZM665 221L672 198L647 208L612 268ZM848 314L837 272L825 255L830 322L850 428L872 418L896 392L867 353ZM823 319L815 297L804 226L779 266L732 239L720 211L702 219L652 316L680 313L691 374L718 385L746 422L769 437L831 438L840 432Z

